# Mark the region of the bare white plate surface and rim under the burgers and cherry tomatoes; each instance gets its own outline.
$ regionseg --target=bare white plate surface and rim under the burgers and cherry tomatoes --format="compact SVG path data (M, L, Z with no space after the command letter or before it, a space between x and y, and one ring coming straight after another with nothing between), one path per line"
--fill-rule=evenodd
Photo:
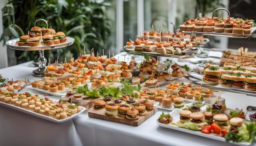
M180 111L182 111L182 110L176 108L175 110L168 113L168 114L170 114L171 117L173 117L172 122L178 122L180 120ZM168 129L172 129L172 130L176 130L176 131L181 131L181 132L184 132L184 133L189 133L189 134L198 135L198 136L201 136L201 137L206 137L206 138L209 138L209 139L215 139L215 140L218 140L218 141L226 142L226 139L224 137L205 134L205 133L202 133L201 131L193 131L193 130L186 129L186 128L180 128L180 127L177 127L175 125L162 124L162 123L158 122L157 120L156 120L156 122L159 126L164 127L164 128L168 128ZM237 145L240 145L240 146L245 146L245 145L250 145L251 143L249 143L249 142L247 142L247 143L245 143L245 142L235 143L234 142L233 144L237 144Z

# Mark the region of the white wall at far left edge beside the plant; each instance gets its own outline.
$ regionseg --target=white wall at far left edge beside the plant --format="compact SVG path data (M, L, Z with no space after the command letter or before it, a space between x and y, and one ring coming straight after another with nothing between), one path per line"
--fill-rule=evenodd
M0 35L3 33L3 22L2 22L2 8L5 6L7 3L7 0L0 0ZM3 46L5 42L1 41L0 42L0 69L7 67L8 62L7 62L7 47Z

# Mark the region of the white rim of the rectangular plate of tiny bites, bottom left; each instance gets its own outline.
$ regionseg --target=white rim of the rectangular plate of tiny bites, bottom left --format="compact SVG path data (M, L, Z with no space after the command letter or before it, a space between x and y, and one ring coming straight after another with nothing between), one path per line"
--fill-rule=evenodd
M4 103L4 102L0 102L0 105L2 106L6 106L6 107L9 107L9 108L12 108L14 110L17 110L17 111L21 111L23 113L27 113L29 115L33 115L33 116L36 116L36 117L40 117L42 119L46 119L48 121L51 121L51 122L54 122L54 123L62 123L62 122L65 122L65 121L68 121L74 117L76 117L77 115L79 115L80 113L83 113L83 111L85 111L85 107L83 106L80 106L81 107L81 111L79 113L76 113L76 114L73 114L71 115L70 117L67 117L65 119L55 119L53 117L49 117L47 115L42 115L42 114L39 114L39 113L36 113L34 111L30 111L28 109L25 109L25 108L21 108L20 106L14 106L12 104L7 104L7 103Z

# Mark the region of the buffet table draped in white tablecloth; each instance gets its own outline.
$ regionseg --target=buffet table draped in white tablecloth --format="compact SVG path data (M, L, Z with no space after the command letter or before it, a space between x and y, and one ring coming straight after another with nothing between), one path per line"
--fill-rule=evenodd
M173 59L173 58L172 58ZM184 59L183 61L186 62ZM175 62L179 60L174 58ZM180 63L184 63L180 62ZM195 64L189 64L195 67ZM29 79L30 82L38 80L32 75L32 71L37 69L32 62L22 63L16 66L0 69L3 77L9 80ZM189 83L184 77L177 82ZM31 94L42 95L38 91L31 91L23 88L20 93L29 91ZM54 101L61 97L47 96ZM246 111L246 107L255 106L256 97L245 94L223 92L221 97L226 99L228 108L240 108ZM156 120L159 115L168 113L162 109L158 111L139 126L129 126L125 124L109 122L101 119L88 117L88 112L84 111L72 120L63 123L54 123L13 110L0 105L0 145L26 145L26 146L131 146L131 145L157 145L157 146L231 146L234 144L220 142L213 139L191 135L157 125ZM256 143L252 144L256 146Z

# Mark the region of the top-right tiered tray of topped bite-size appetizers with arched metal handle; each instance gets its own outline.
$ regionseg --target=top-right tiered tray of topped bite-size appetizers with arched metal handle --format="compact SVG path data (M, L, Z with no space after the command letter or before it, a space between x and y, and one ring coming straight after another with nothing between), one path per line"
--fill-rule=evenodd
M225 10L229 13L227 18L213 17L215 11ZM256 31L254 20L230 17L230 12L224 8L213 11L212 17L198 17L187 20L180 25L182 33L198 35L222 36L228 38L248 38Z

